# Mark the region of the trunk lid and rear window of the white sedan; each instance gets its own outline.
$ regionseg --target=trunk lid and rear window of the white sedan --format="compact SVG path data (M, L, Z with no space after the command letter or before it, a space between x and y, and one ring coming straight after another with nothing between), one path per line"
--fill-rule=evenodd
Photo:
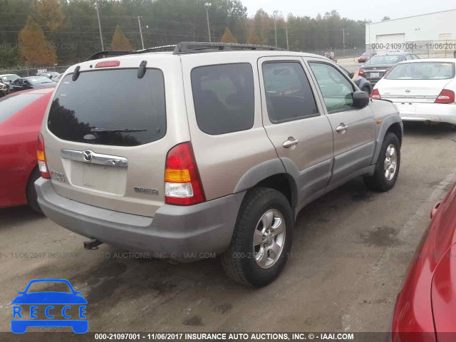
M455 78L455 63L400 63L378 83L381 98L396 103L434 103Z

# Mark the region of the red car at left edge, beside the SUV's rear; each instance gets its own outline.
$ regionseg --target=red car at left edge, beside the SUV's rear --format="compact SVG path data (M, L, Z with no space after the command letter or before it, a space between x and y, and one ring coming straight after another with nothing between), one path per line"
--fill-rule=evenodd
M54 88L0 98L0 207L29 204L41 212L33 183L40 177L36 141Z

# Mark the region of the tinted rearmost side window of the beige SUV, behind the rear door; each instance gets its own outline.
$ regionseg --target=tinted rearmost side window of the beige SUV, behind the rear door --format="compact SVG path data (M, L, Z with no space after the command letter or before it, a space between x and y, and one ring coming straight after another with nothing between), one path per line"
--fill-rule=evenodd
M254 75L250 63L201 66L192 70L197 124L210 135L254 125Z

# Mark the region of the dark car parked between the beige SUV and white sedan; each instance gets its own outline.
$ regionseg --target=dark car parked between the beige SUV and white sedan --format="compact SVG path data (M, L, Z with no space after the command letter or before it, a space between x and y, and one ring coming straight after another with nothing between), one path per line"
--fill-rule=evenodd
M380 78L385 76L385 73L397 63L402 61L411 61L420 59L413 53L408 52L392 52L383 55L371 57L366 63L359 68L359 76L367 78L371 82L371 86L380 81Z

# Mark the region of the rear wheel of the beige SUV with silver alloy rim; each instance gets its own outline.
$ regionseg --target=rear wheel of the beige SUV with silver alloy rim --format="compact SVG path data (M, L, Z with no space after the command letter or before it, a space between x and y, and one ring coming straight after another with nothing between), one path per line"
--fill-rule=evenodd
M249 190L239 209L232 241L221 256L229 278L254 287L274 281L288 259L293 224L293 211L281 192L265 187Z

